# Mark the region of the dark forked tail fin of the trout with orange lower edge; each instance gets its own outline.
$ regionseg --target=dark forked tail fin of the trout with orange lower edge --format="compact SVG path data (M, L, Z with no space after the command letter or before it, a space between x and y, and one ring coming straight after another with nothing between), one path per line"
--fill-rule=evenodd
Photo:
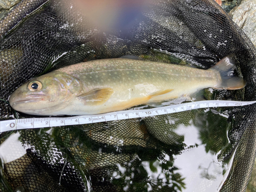
M243 78L233 76L234 63L229 56L221 59L209 70L216 70L221 75L221 82L217 84L215 89L236 90L246 86L246 82Z

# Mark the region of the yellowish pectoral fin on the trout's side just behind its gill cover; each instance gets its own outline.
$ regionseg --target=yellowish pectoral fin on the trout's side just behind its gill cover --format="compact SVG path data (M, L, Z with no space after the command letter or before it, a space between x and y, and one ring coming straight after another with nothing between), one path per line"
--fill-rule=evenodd
M101 88L81 94L78 98L86 105L100 105L109 100L113 93L111 88Z

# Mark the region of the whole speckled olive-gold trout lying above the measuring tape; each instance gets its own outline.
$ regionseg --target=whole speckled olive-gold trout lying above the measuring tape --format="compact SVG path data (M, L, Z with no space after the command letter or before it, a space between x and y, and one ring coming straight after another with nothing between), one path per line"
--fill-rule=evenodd
M129 58L80 62L32 78L9 97L11 107L30 115L89 115L132 106L191 98L205 88L244 88L229 56L203 70Z

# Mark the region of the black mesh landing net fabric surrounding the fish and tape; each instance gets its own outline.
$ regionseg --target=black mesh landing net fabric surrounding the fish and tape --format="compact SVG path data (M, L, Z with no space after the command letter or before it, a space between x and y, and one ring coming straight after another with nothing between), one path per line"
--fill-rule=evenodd
M12 14L17 18L10 23ZM82 22L80 16L71 4L59 1L24 0L13 8L0 23L1 99L7 101L17 87L34 76L82 61L135 55L180 65L189 62L208 69L231 55L236 61L235 74L243 77L247 85L242 90L217 91L214 98L256 100L255 49L214 1L150 1L133 22L119 24L112 31L102 31L86 19ZM5 101L0 101L1 120L17 116ZM225 145L219 160L233 157L220 191L244 191L255 159L256 109L255 105L248 105L224 110L227 121L194 110L17 131L20 142L28 149L24 156L3 164L0 190L147 191L150 186L152 191L182 191L184 179L176 172L173 159L166 162L163 154L173 157L196 147L184 143L184 137L176 131L178 125L182 132L182 126L194 123L204 127L200 133L207 135L203 139L206 150L219 151ZM203 116L207 121L191 121ZM229 142L220 137L226 132ZM3 143L10 133L0 137ZM166 170L167 182L148 177L141 166L144 160L155 159L165 162L161 166Z

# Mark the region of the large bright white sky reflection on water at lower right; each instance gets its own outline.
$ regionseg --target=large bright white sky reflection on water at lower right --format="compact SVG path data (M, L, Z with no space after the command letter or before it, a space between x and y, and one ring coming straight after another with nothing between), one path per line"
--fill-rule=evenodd
M196 142L200 143L200 140ZM205 144L202 143L177 155L174 166L178 168L176 172L185 177L186 189L182 191L218 191L223 172L227 169L225 164L218 162L214 152L205 152Z

